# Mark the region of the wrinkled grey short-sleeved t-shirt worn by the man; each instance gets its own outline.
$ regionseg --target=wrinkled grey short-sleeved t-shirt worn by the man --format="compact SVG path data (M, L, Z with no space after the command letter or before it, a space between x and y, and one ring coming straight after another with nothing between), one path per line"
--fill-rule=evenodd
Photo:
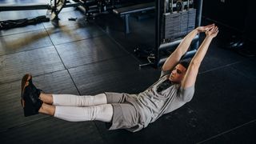
M170 71L162 71L158 81L148 89L138 95L129 94L130 96L127 98L127 101L136 107L140 115L138 126L134 127L134 130L131 131L141 130L151 122L156 121L162 114L178 109L193 98L194 86L183 89L179 84L174 84L158 93L159 84L164 82L169 76Z

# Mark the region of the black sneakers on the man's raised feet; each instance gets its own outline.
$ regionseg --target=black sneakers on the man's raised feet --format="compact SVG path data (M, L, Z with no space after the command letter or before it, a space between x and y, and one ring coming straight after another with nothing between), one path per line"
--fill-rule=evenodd
M30 116L38 114L38 110L42 106L42 101L39 99L39 95L42 90L37 89L30 74L25 74L22 78L22 106L24 110L24 116Z

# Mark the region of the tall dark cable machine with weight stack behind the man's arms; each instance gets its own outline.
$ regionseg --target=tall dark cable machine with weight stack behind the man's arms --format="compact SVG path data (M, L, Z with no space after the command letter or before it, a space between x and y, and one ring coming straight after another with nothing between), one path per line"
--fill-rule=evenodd
M182 36L189 33L194 27L201 25L202 0L196 2L196 9L194 9L192 0L156 0L155 47L154 50L151 50L152 54L149 54L150 61L140 66L153 65L157 68L162 66L170 55L162 54L165 54L166 51L174 51L182 41ZM198 46L199 35L193 39L190 51L186 52L182 58L192 57ZM152 55L154 55L153 58Z

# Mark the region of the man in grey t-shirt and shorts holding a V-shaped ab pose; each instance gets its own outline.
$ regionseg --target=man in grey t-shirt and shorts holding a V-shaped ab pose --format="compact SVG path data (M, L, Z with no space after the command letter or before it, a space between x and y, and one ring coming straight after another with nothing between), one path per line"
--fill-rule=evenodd
M180 61L196 34L206 33L191 62ZM194 95L194 83L198 69L210 42L218 34L214 24L199 26L183 38L162 66L162 74L147 90L140 94L104 93L95 96L71 94L43 94L37 89L32 76L22 78L22 106L25 116L49 114L70 122L98 120L108 122L109 130L142 130L162 114L190 102Z

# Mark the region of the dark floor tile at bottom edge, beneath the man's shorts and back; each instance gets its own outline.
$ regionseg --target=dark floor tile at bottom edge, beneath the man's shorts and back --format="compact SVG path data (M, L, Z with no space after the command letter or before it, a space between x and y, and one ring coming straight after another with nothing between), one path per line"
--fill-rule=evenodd
M107 130L103 122L96 124L102 138L108 143L195 143L218 134L187 105L163 115L136 133L127 130Z

